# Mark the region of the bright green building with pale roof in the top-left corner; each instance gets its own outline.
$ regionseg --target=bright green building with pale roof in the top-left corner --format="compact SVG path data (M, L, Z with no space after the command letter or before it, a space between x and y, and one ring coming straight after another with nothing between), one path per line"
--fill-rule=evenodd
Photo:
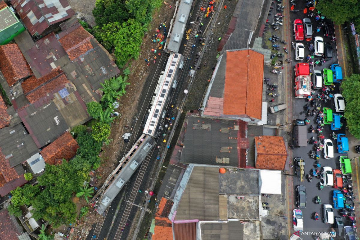
M25 31L24 26L4 1L0 1L0 45L9 43Z

